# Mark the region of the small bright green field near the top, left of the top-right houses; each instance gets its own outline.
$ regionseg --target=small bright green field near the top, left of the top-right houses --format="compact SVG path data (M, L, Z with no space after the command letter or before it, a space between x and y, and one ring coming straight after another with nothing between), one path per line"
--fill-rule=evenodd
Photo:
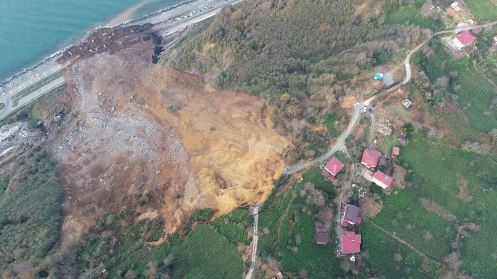
M385 19L385 24L414 24L423 28L437 29L440 25L432 18L423 18L418 8L401 6L397 10L389 13Z

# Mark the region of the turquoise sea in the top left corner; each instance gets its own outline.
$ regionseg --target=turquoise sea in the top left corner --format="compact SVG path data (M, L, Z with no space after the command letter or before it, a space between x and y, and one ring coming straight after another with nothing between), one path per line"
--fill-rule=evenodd
M78 42L142 0L0 0L0 82ZM184 0L145 0L132 18Z

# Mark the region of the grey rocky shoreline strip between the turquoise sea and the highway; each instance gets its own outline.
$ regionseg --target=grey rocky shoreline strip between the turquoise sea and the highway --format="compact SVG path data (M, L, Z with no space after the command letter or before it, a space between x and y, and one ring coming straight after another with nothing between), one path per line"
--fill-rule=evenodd
M159 10L156 10L154 12L151 12L147 15L141 16L141 17L136 18L136 19L127 20L127 21L120 22L120 23L117 23L114 25L110 24L110 23L113 23L113 21L117 21L117 20L115 20L116 18L122 17L123 14L126 14L127 12L129 12L129 10L136 11L138 8L142 7L143 5L145 5L149 2L150 2L150 0L144 0L141 3L138 3L137 5L128 8L123 13L117 15L116 17L111 19L107 24L98 25L96 27L93 27L93 28L87 30L84 33L84 35L81 37L80 41L83 40L89 34L93 33L95 30L103 28L103 27L121 28L121 27L129 26L129 25L136 25L136 24L140 24L140 25L145 24L145 23L156 24L156 23L162 22L164 20L161 21L161 18L158 18L157 21L155 21L155 22L148 22L148 20L152 21L154 18L161 16L161 15L165 14L166 12L173 11L174 9L178 9L180 7L183 7L183 6L187 6L188 4L195 4L195 3L200 4L200 3L202 3L202 5L203 5L203 3L214 2L214 0L185 0L185 1L182 1L180 3L174 4L172 6L161 8ZM172 14L167 15L167 17L173 17L173 16L176 16L176 15L184 13L184 12L185 12L184 10L178 10L177 13L175 13L174 15L172 15ZM131 14L129 14L129 15L131 15ZM44 69L47 69L50 67L55 67L56 66L55 61L57 60L57 58L59 58L62 55L62 53L64 53L64 51L66 51L68 48L72 47L73 45L74 44L63 47L62 49L60 49L60 50L52 53L51 55L43 58L41 61L39 61L39 62L29 66L29 67L26 67L22 70L19 70L18 72L11 75L10 77L2 80L0 82L0 94L7 92L11 88L15 87L19 82L28 79L30 75L36 76L37 73L39 73L40 71L42 71Z

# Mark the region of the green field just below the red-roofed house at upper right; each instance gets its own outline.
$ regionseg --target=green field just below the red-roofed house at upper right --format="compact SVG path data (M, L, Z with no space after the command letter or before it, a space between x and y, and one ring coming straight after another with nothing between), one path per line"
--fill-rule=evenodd
M452 60L437 40L432 40L430 46L434 54L426 58L419 53L418 58L431 82L451 71L457 72L457 76L452 78L450 90L458 96L458 103L464 109L471 127L482 133L497 127L496 115L490 107L491 101L497 96L495 85L480 74L468 58ZM458 90L455 90L456 85L460 86Z

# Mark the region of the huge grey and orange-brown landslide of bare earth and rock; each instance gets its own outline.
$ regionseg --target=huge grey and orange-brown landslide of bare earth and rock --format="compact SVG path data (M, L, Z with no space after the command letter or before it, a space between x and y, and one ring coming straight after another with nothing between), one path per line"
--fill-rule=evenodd
M152 64L151 54L142 42L67 71L77 124L53 147L68 191L66 239L92 212L119 212L149 191L160 207L139 210L158 210L170 233L195 208L223 214L262 202L282 172L290 142L271 128L261 100L210 89Z

